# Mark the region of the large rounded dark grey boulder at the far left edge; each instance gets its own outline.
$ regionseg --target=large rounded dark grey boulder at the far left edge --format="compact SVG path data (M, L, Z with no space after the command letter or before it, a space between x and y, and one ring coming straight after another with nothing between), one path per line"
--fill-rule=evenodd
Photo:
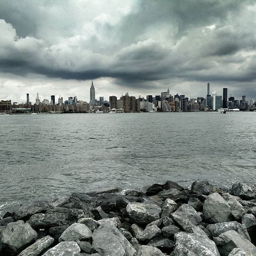
M1 240L7 255L20 253L29 243L37 238L36 231L23 220L7 224L2 230Z

